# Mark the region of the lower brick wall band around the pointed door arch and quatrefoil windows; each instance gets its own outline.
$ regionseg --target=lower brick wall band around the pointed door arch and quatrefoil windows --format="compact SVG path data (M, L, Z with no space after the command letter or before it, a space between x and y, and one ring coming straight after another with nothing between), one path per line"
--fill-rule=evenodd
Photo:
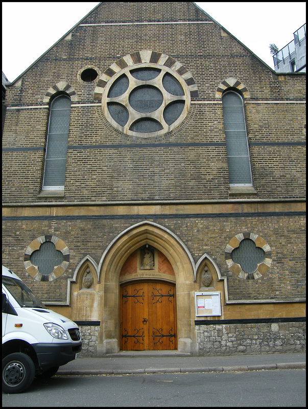
M194 214L177 215L126 215L107 217L88 216L55 218L54 220L4 221L3 264L12 269L44 301L66 300L66 280L72 278L80 261L89 255L99 263L110 242L132 224L145 219L154 221L171 230L186 245L195 262L208 254L218 264L222 276L228 277L229 299L236 300L296 300L305 297L305 218L303 216L249 216L233 218L202 217ZM48 218L49 219L49 218ZM252 231L269 243L272 265L258 280L242 280L227 268L225 246L236 234ZM39 283L27 277L23 256L27 246L42 234L54 234L67 245L70 263L65 274L55 281ZM193 279L193 278L192 278Z

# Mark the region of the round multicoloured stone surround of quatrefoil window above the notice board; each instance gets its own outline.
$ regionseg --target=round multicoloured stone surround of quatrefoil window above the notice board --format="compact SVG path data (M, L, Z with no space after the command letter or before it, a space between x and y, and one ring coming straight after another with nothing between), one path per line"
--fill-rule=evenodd
M251 273L243 271L241 265L234 263L234 261L231 258L231 253L234 250L234 248L239 247L241 241L244 239L252 240L256 247L262 248L263 251L265 252L265 259L263 260L262 263L259 263L257 265L256 270ZM225 260L229 270L232 271L236 277L239 277L244 280L253 280L262 277L270 268L272 264L272 252L269 244L262 237L255 233L244 232L235 235L228 242L225 248Z

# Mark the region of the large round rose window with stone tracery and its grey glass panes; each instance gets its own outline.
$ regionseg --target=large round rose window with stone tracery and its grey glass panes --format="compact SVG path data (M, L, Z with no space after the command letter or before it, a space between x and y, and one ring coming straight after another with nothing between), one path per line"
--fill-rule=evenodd
M184 79L164 65L128 66L108 81L102 96L105 117L128 135L151 138L178 126L191 102Z

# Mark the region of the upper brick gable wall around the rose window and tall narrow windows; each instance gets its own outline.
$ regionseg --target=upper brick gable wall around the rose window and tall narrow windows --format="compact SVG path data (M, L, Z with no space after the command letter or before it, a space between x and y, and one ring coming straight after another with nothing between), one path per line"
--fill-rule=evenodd
M209 19L192 3L173 3L172 7L163 2L129 3L126 10L122 3L107 2L82 24L137 20ZM92 83L78 79L83 66L96 66L102 74L120 57L142 49L163 52L183 64L192 73L199 93L184 129L170 132L168 139L150 139L146 143L121 138L119 132L106 126L99 102L93 105L100 75ZM59 201L37 197L49 115L43 100L59 81L66 81L76 92L70 116L66 201L227 199L224 125L216 89L229 77L241 81L250 95L245 111L256 197L303 197L304 76L272 74L209 21L186 25L81 25L69 39L56 44L8 87L3 137L3 163L8 165L3 172L4 202ZM11 109L16 106L27 109ZM163 145L157 146L157 142Z

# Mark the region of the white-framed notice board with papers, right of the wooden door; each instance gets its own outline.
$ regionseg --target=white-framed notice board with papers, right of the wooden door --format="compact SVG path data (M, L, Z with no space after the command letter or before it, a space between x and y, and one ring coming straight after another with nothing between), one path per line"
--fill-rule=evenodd
M221 315L220 291L195 292L196 316Z

